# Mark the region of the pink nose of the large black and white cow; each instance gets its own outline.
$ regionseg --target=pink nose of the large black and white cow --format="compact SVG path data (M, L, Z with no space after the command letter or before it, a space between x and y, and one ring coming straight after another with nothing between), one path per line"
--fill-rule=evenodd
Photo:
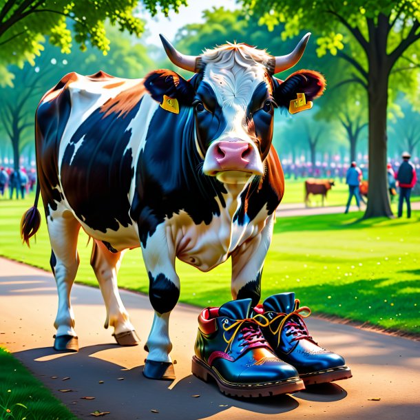
M214 158L220 169L241 169L249 164L252 147L244 141L220 141L214 149Z

